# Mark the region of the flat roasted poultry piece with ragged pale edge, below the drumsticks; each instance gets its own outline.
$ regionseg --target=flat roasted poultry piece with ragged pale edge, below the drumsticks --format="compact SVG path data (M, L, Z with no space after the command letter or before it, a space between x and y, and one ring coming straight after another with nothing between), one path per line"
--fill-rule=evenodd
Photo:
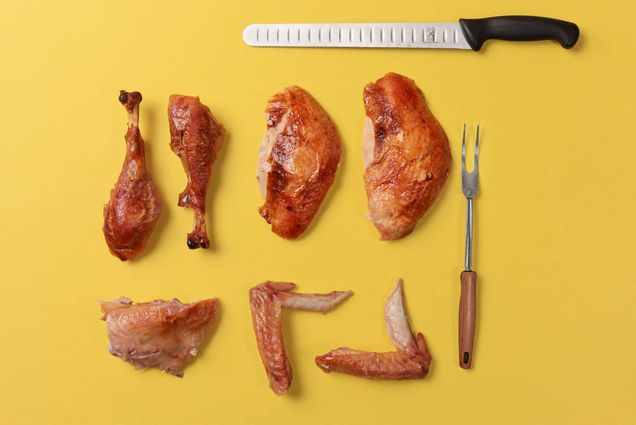
M100 304L113 356L137 369L156 368L179 377L208 339L217 311L216 298L133 304L122 297Z

